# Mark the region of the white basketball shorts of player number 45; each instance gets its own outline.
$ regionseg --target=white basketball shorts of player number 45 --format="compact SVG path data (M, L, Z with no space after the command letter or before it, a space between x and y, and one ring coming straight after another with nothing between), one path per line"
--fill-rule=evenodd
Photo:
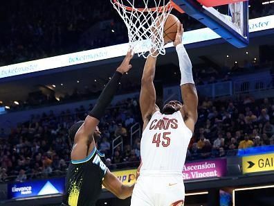
M131 206L176 206L174 203L180 200L185 200L182 173L140 173L131 196Z

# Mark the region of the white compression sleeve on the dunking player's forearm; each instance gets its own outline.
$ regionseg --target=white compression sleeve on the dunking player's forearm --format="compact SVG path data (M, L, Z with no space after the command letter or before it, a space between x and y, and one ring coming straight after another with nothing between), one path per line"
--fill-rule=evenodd
M179 66L181 71L181 85L194 84L192 76L192 64L188 53L185 51L185 46L183 44L178 44L176 46L176 51L179 58Z

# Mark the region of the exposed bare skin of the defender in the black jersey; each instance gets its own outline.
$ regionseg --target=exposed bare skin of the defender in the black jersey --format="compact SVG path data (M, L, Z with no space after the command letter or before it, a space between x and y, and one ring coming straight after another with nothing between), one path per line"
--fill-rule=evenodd
M129 64L131 58L133 58L132 51L129 51L116 71L121 74L129 71L132 67ZM89 115L86 117L84 123L76 132L74 137L71 160L82 160L89 155L91 151L93 151L93 148L95 147L94 139L100 138L101 134L98 128L98 123L99 120L95 117L91 117ZM136 175L136 178L138 178L138 175ZM109 171L109 169L107 169L107 173L104 176L102 184L120 199L125 199L131 196L134 189L134 185L123 185L122 182L120 182L120 180L118 180L118 178L116 178L116 176Z

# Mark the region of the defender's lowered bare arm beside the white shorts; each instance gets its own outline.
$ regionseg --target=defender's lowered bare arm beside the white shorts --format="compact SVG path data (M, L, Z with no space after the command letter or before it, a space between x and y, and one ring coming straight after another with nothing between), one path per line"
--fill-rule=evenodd
M104 175L104 180L102 182L104 187L111 191L112 194L117 196L119 199L125 199L131 196L134 189L134 185L127 186L122 184L118 178L116 178L113 173L107 169L106 175Z

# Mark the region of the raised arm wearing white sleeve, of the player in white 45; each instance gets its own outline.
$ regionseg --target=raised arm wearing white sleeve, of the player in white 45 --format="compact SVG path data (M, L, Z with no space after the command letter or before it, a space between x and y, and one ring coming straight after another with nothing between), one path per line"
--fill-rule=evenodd
M192 63L188 57L188 53L185 51L185 47L182 44L183 37L183 25L178 25L176 40L174 46L179 58L179 66L181 71L181 94L183 98L183 108L181 113L185 120L185 125L194 132L194 126L197 122L198 114L198 96L194 80L192 76Z

